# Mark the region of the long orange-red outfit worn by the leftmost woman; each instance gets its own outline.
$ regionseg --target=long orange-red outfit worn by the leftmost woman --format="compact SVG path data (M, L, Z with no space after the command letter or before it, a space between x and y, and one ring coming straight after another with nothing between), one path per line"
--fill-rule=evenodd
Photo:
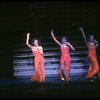
M34 75L32 81L45 82L44 57L38 50L34 50Z

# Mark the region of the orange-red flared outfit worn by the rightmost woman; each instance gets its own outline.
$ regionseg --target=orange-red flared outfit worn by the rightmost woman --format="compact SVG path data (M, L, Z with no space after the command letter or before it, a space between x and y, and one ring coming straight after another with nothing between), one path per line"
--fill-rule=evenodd
M87 78L92 78L94 75L99 73L99 64L96 57L96 46L95 45L89 45L89 54L88 54L89 60L91 62L87 74Z

